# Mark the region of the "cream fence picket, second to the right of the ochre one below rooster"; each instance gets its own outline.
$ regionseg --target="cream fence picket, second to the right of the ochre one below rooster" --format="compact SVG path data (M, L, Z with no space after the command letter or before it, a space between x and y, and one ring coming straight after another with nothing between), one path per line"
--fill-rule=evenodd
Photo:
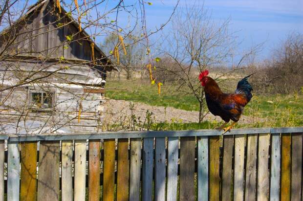
M235 136L234 200L244 200L244 135Z

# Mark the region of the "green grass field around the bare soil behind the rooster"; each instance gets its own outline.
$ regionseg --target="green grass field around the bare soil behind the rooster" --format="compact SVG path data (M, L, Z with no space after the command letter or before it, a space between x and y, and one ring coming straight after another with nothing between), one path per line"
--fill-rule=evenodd
M186 89L176 89L169 85L162 87L162 94L159 96L156 86L140 84L139 81L108 81L106 96L110 99L142 102L154 106L170 106L187 111L199 110L194 95L186 93ZM249 125L238 125L236 127L303 126L303 95L254 95L251 102L245 107L244 115L262 119ZM201 124L168 122L155 124L152 129L208 129L214 128L218 124L218 122L203 122Z

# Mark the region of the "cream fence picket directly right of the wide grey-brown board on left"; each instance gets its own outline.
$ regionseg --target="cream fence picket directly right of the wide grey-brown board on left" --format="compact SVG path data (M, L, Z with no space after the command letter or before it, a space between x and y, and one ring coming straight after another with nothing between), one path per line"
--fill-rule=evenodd
M73 201L72 183L72 140L62 140L62 168L61 168L61 197L62 201Z

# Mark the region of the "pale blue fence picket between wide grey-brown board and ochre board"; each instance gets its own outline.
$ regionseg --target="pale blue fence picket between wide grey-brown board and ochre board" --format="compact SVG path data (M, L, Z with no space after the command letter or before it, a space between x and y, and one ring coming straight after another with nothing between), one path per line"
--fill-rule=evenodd
M198 137L198 201L208 201L208 137Z

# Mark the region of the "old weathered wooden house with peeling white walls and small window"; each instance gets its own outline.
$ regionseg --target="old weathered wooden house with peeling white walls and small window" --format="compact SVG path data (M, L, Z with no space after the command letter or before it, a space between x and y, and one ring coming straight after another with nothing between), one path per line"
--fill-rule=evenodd
M0 33L0 133L94 132L116 70L54 0L41 0Z

